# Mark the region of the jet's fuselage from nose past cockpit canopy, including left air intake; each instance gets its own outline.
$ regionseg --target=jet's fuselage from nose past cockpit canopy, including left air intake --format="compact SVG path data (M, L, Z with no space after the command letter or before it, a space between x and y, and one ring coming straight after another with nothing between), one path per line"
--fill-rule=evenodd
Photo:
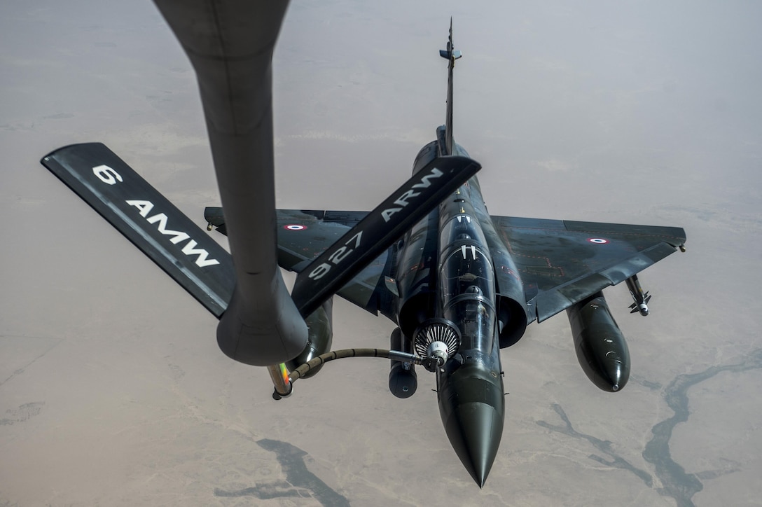
M442 151L436 144L421 149L414 172ZM453 151L467 156L460 146ZM436 371L440 416L480 486L497 454L505 416L495 267L485 236L485 228L493 234L494 228L483 217L489 220L473 177L411 229L397 263L397 321L405 338L418 343L421 333L447 326L459 335L457 350Z

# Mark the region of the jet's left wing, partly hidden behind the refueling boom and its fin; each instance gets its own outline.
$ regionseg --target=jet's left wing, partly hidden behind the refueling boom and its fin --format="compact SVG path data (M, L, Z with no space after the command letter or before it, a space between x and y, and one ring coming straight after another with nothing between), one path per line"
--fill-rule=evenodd
M300 273L367 214L367 211L277 210L278 265ZM220 233L226 234L221 207L207 207L204 217ZM381 312L392 316L392 296L383 283L391 271L388 254L387 250L379 255L337 294L374 315Z

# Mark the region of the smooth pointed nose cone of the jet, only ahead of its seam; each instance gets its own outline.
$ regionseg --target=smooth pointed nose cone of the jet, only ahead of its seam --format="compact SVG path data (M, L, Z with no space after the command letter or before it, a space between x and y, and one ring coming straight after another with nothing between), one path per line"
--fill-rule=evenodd
M500 447L502 415L487 403L465 403L453 409L445 431L463 466L484 486Z

